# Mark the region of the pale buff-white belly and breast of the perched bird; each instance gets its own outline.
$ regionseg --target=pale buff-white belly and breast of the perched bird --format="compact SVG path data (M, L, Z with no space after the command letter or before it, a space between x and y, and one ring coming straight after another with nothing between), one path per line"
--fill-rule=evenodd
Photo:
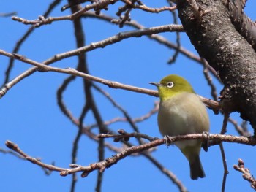
M206 107L194 93L178 93L160 102L158 113L159 131L163 136L200 134L209 131ZM196 140L176 142L179 148L195 145Z

